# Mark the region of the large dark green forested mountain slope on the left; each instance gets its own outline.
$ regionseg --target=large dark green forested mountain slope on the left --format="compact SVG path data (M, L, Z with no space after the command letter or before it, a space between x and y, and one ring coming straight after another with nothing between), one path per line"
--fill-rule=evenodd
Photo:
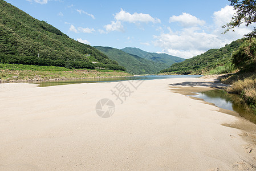
M96 48L69 38L3 0L0 35L0 63L125 70Z

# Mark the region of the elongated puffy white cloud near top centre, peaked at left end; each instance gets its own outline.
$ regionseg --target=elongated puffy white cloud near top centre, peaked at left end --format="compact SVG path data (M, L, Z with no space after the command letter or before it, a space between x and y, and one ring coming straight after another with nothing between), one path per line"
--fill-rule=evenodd
M123 9L120 10L119 13L115 15L115 19L117 21L124 21L129 23L136 23L136 22L153 22L153 23L161 23L160 19L153 18L149 14L143 14L143 13L127 13Z

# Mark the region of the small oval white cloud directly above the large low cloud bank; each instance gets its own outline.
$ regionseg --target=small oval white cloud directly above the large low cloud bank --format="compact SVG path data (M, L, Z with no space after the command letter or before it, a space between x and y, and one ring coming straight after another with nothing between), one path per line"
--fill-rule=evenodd
M182 13L182 15L173 15L169 18L169 22L179 22L182 27L196 27L198 25L203 26L205 25L205 21L194 17L188 13Z

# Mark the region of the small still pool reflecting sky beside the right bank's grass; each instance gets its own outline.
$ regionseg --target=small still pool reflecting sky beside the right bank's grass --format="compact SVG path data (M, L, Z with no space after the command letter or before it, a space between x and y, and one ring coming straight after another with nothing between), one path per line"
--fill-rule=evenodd
M243 103L238 95L229 94L223 89L214 89L211 91L197 92L197 95L193 95L193 97L204 99L204 101L213 103L219 108L235 111L240 116L256 124L255 112Z

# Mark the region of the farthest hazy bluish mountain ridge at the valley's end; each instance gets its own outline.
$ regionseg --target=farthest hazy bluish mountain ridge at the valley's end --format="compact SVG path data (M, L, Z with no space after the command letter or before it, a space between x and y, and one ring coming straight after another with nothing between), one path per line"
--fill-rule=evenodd
M182 62L185 60L183 58L179 58L177 56L172 56L168 54L157 54L157 53L146 52L135 47L125 47L121 50L124 52L127 52L128 54L137 55L137 56L140 56L141 58L152 60L154 62L165 63L168 66L171 66L173 63Z

